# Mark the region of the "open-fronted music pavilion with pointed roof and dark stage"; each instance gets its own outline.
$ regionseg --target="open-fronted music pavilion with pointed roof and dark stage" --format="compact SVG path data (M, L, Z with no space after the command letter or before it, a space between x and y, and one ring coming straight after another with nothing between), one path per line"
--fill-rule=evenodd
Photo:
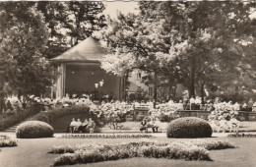
M56 84L56 98L69 94L91 94L100 99L108 94L110 98L123 99L124 80L107 74L100 68L100 59L106 50L93 38L80 42L63 54L51 59L58 62L60 76Z

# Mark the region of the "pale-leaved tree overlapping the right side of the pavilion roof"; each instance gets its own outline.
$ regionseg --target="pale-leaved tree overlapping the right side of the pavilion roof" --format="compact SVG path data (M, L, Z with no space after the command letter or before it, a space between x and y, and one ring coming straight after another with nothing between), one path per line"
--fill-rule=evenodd
M162 42L167 42L168 37L162 35L160 38L158 24L160 23L145 22L145 18L133 14L119 14L117 20L109 20L108 27L101 30L102 39L111 52L104 57L102 68L117 75L125 75L133 69L147 72L150 79L148 81L155 85L155 99L161 76L160 61L156 59L156 54L160 50L168 51L167 44ZM150 28L156 28L156 32L152 34ZM155 47L156 45L159 47Z

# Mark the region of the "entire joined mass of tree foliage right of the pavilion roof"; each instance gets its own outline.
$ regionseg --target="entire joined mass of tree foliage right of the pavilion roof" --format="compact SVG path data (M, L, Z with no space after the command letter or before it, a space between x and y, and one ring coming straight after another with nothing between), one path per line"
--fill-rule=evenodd
M190 96L196 83L202 96L213 83L224 89L230 82L225 75L239 82L243 74L255 79L253 12L254 2L140 2L139 15L120 14L102 30L114 53L102 67L112 73L133 68L154 72L154 83L183 83ZM253 83L247 84L251 89Z

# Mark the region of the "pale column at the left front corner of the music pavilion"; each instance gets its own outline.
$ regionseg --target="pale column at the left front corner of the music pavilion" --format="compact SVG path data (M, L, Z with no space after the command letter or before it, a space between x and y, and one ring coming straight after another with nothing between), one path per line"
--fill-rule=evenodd
M60 66L58 67L58 72L60 76L57 80L57 92L56 98L61 98L65 96L65 83L66 83L66 65L61 62Z

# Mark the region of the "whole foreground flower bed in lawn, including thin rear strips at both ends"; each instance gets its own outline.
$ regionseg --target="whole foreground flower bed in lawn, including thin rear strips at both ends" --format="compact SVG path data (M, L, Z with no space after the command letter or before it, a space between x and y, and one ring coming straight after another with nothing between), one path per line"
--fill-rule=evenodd
M211 160L207 149L235 147L227 141L159 142L140 141L121 144L80 144L53 146L48 153L64 153L55 159L54 165L94 163L133 157L168 158L184 160ZM219 146L218 146L219 145Z

